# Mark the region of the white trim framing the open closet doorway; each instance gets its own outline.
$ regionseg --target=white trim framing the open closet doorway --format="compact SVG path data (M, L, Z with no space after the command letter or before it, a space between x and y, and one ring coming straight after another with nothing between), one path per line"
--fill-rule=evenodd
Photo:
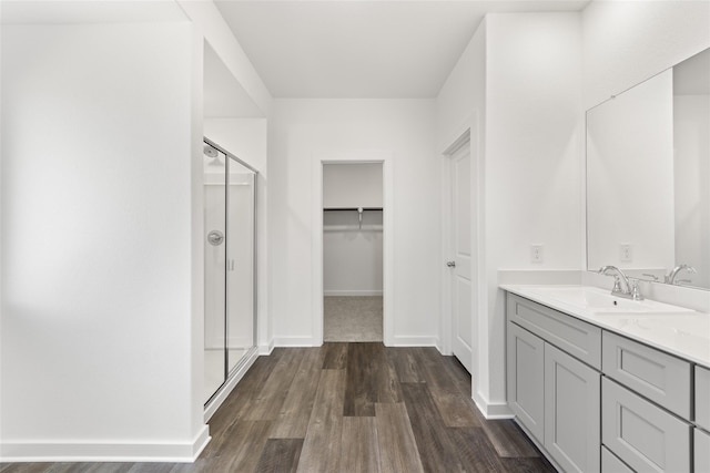
M323 165L328 163L382 163L383 179L383 339L387 347L394 345L394 154L384 151L333 152L313 155L313 342L310 345L283 345L294 339L280 339L278 346L320 347L323 345ZM283 343L282 343L283 341Z

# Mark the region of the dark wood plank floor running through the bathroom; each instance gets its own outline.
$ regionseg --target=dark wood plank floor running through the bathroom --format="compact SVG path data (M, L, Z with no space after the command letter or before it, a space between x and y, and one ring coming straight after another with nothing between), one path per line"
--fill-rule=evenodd
M193 464L4 463L1 473L554 472L513 421L486 421L434 348L325 343L261 357Z

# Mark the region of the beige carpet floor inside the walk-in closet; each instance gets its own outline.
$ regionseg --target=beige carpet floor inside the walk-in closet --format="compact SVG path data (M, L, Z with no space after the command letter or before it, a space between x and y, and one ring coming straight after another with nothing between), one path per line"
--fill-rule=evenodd
M383 341L382 296L327 296L323 301L324 341Z

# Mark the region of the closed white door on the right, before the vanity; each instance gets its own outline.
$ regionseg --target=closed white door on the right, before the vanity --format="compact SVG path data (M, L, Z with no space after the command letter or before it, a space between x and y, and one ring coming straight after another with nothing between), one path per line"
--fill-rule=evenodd
M471 372L471 176L470 143L452 155L452 349Z

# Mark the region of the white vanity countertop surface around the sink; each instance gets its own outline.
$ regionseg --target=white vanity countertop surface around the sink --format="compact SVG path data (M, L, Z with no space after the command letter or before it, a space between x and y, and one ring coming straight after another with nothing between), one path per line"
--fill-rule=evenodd
M501 285L500 289L710 368L710 313L698 311L683 313L594 313L578 306L546 297L536 291L540 287L539 285ZM549 288L550 286L545 287Z

